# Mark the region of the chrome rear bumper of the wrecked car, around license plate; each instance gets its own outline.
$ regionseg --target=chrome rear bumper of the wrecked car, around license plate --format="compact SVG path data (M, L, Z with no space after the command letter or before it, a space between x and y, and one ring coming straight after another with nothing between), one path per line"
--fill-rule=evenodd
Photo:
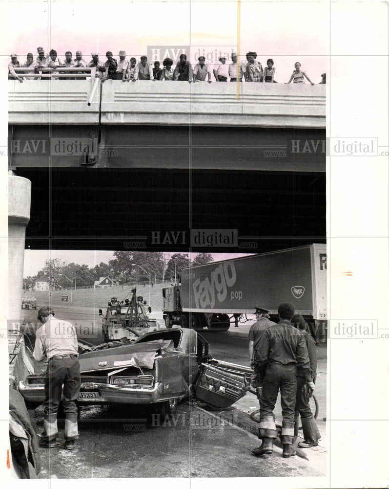
M44 399L43 385L28 385L24 381L19 382L19 391L24 400L31 403L41 404ZM80 405L84 404L151 404L154 402L162 402L164 400L176 399L183 397L185 393L172 395L163 392L161 382L155 382L153 387L121 387L112 384L98 384L88 382L88 387L81 387L80 393L98 392L99 399L82 399L78 400Z

